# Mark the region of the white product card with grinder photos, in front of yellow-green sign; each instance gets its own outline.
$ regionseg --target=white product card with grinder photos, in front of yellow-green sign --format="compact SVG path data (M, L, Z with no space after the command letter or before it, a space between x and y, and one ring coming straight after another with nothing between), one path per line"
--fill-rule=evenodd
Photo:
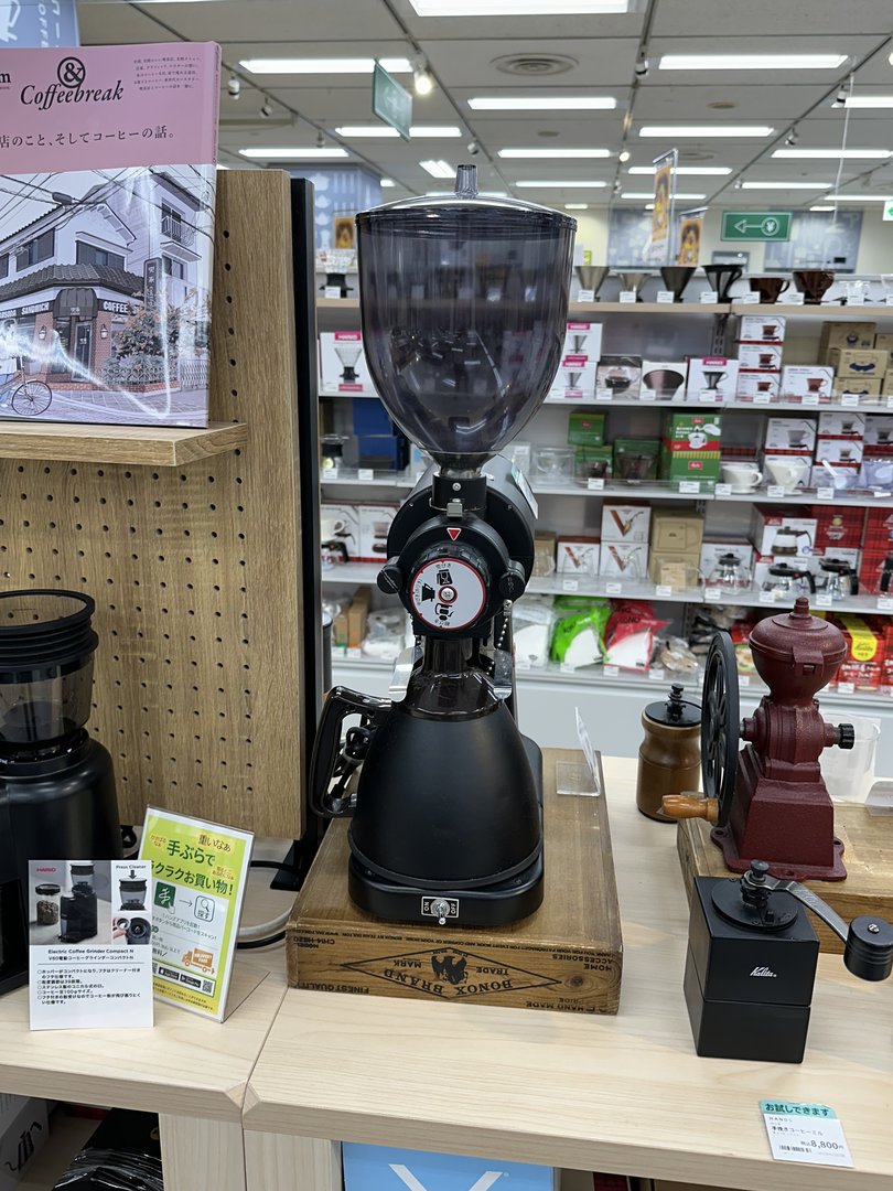
M32 1030L152 1024L150 885L138 860L30 861Z

